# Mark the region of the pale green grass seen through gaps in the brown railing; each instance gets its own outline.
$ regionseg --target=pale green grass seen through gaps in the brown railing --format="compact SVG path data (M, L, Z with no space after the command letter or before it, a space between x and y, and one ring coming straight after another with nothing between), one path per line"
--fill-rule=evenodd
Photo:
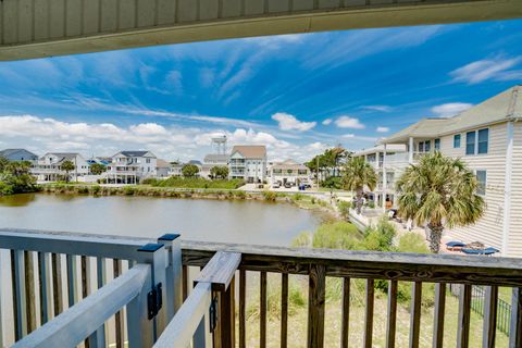
M259 347L259 277L256 273L248 273L249 286L247 287L247 347ZM301 291L301 298L297 301L302 306L296 306L290 289L288 318L288 347L306 347L307 320L308 320L308 281L302 276L290 276ZM328 278L325 306L325 347L339 347L340 340L340 291L335 279ZM279 307L281 276L269 274L269 322L268 322L268 347L279 347ZM387 295L375 290L375 310L373 322L373 347L385 347L386 344L386 310ZM450 295L446 298L445 341L444 347L455 347L457 341L458 300ZM432 347L434 308L422 309L421 314L421 339L420 347ZM470 327L470 347L482 346L483 320L472 312ZM408 347L410 330L410 311L408 303L398 303L396 347ZM362 347L364 333L364 289L356 281L351 282L350 297L350 326L349 346ZM507 347L508 337L497 331L497 347Z

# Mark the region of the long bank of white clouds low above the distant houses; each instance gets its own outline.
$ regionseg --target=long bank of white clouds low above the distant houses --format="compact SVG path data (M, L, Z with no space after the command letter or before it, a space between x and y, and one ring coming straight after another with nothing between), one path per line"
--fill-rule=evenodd
M112 156L124 149L150 150L165 160L202 159L210 149L210 139L226 135L228 148L234 145L265 145L271 160L293 158L308 161L321 152L322 142L295 144L274 134L251 127L202 129L158 123L120 126L111 123L63 122L34 115L0 116L0 144L23 147L44 154L48 151L78 151L85 157Z

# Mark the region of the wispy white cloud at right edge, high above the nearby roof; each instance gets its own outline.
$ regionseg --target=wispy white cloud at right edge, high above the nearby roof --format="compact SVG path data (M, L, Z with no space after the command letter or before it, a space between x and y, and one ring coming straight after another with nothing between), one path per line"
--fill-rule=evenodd
M522 62L522 57L506 59L484 59L461 66L449 75L453 82L463 82L470 85L485 80L517 80L522 78L522 70L510 70Z

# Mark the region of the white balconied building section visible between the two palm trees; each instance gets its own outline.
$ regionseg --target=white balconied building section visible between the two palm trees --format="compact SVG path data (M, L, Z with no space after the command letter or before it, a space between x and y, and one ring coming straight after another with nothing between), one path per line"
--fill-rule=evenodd
M407 147L403 144L384 144L357 151L352 157L362 157L377 174L377 186L368 190L376 207L390 209L395 206L395 181L408 164Z

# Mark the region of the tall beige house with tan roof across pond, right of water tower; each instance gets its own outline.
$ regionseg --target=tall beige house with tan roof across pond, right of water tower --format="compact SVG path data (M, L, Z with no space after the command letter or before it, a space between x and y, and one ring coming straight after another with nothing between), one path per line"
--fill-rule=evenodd
M243 178L247 183L266 181L266 147L264 145L239 145L232 149L228 163L229 178Z

